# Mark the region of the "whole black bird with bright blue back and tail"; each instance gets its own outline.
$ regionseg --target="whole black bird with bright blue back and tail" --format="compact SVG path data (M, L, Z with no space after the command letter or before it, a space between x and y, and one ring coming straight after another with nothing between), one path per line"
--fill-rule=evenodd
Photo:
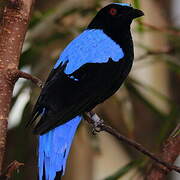
M129 4L109 4L61 53L29 122L40 135L40 180L64 174L82 114L112 96L126 79L134 59L130 25L142 15Z

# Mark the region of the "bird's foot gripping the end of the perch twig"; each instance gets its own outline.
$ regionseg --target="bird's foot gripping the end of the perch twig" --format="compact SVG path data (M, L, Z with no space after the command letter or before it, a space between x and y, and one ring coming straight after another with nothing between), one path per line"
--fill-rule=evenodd
M84 115L84 118L92 125L93 134L101 131L101 125L104 124L104 121L96 113L90 111Z

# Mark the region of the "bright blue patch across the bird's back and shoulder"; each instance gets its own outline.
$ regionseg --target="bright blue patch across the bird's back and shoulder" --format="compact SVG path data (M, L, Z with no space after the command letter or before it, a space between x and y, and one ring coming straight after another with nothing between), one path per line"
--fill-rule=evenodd
M103 30L85 30L64 49L54 69L68 62L64 73L71 74L86 63L105 63L109 58L117 62L123 57L122 48Z

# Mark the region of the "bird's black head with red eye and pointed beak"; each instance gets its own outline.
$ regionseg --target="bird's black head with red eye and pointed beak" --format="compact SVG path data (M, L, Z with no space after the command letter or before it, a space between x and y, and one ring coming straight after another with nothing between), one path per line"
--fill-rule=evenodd
M102 8L89 24L89 29L123 29L129 27L132 20L144 13L130 4L112 3Z

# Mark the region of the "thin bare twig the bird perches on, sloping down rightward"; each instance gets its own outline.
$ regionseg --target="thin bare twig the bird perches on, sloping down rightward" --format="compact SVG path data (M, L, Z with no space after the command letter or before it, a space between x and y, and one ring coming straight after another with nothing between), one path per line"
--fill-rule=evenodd
M119 132L117 132L117 130L113 129L111 126L108 126L106 124L104 124L102 121L101 123L98 124L97 126L97 122L95 122L96 120L93 118L93 116L96 115L95 113L91 112L88 114L84 115L84 118L88 121L88 123L90 123L93 127L94 130L96 132L101 132L101 131L106 131L109 134L115 136L118 140L125 142L126 144L134 147L136 150L140 151L141 153L145 154L146 156L148 156L149 158L151 158L152 160L154 160L155 162L163 165L164 167L166 167L169 170L174 170L178 173L180 173L180 168L177 166L174 166L172 164L169 164L163 160L161 160L160 158L156 157L153 153L149 152L147 149L145 149L141 144L135 142L132 139L129 139L123 135L121 135ZM96 115L97 117L97 115ZM100 118L99 118L100 119ZM95 125L96 124L96 125Z

